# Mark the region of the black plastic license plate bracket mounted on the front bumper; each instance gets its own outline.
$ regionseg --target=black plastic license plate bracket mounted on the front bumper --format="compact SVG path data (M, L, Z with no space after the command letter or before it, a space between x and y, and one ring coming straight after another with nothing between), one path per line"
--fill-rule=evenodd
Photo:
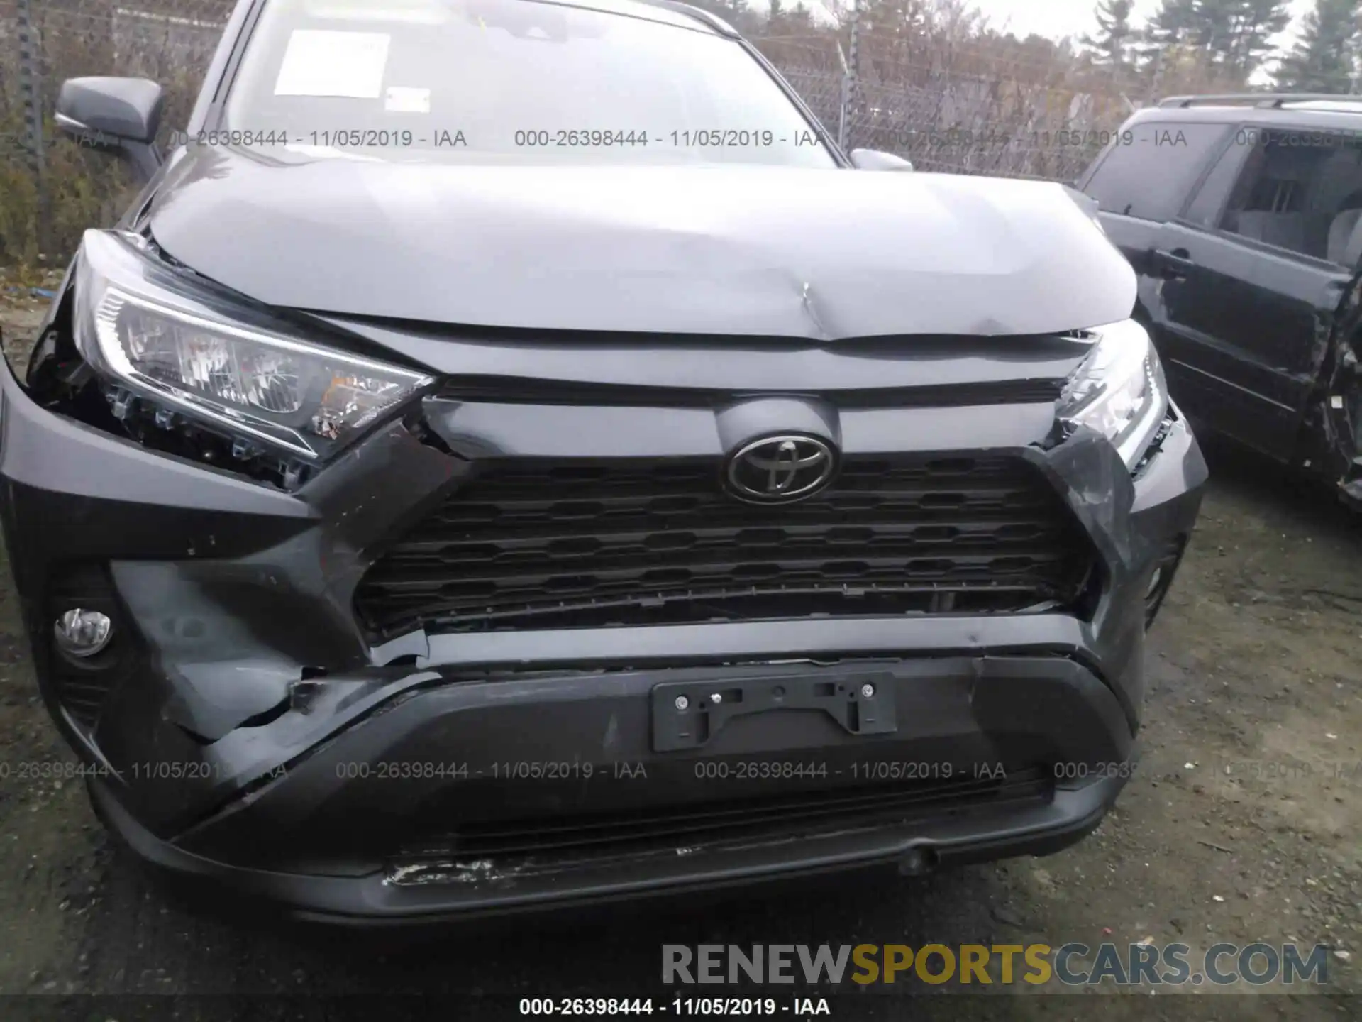
M850 734L891 734L893 683L872 672L663 681L652 687L652 749L703 748L734 717L778 710L823 710Z

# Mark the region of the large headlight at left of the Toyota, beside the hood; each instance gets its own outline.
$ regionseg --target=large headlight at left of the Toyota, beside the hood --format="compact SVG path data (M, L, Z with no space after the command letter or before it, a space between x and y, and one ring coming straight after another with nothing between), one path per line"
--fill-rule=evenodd
M86 232L75 338L97 371L158 405L317 462L430 383L290 337L263 311L168 279L136 248L127 234Z

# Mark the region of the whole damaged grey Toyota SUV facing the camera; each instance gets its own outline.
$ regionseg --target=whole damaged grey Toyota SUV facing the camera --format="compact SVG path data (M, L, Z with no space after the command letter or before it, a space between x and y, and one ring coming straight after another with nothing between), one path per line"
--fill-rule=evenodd
M158 102L64 87L153 177L0 380L142 857L407 923L1099 823L1205 467L1081 196L857 169L673 4L248 0Z

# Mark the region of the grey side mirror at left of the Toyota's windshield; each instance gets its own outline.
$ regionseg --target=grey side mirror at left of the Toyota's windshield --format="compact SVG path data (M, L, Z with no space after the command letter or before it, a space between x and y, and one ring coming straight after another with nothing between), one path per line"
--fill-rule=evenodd
M78 144L116 153L143 180L161 166L157 131L165 95L146 78L68 78L57 95L57 128Z

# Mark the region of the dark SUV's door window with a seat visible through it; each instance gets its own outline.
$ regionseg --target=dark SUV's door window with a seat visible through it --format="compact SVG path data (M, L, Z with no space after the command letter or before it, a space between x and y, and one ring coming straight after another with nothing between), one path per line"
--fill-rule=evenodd
M1237 139L1253 149L1218 226L1355 266L1362 258L1362 143L1295 128L1244 128Z

